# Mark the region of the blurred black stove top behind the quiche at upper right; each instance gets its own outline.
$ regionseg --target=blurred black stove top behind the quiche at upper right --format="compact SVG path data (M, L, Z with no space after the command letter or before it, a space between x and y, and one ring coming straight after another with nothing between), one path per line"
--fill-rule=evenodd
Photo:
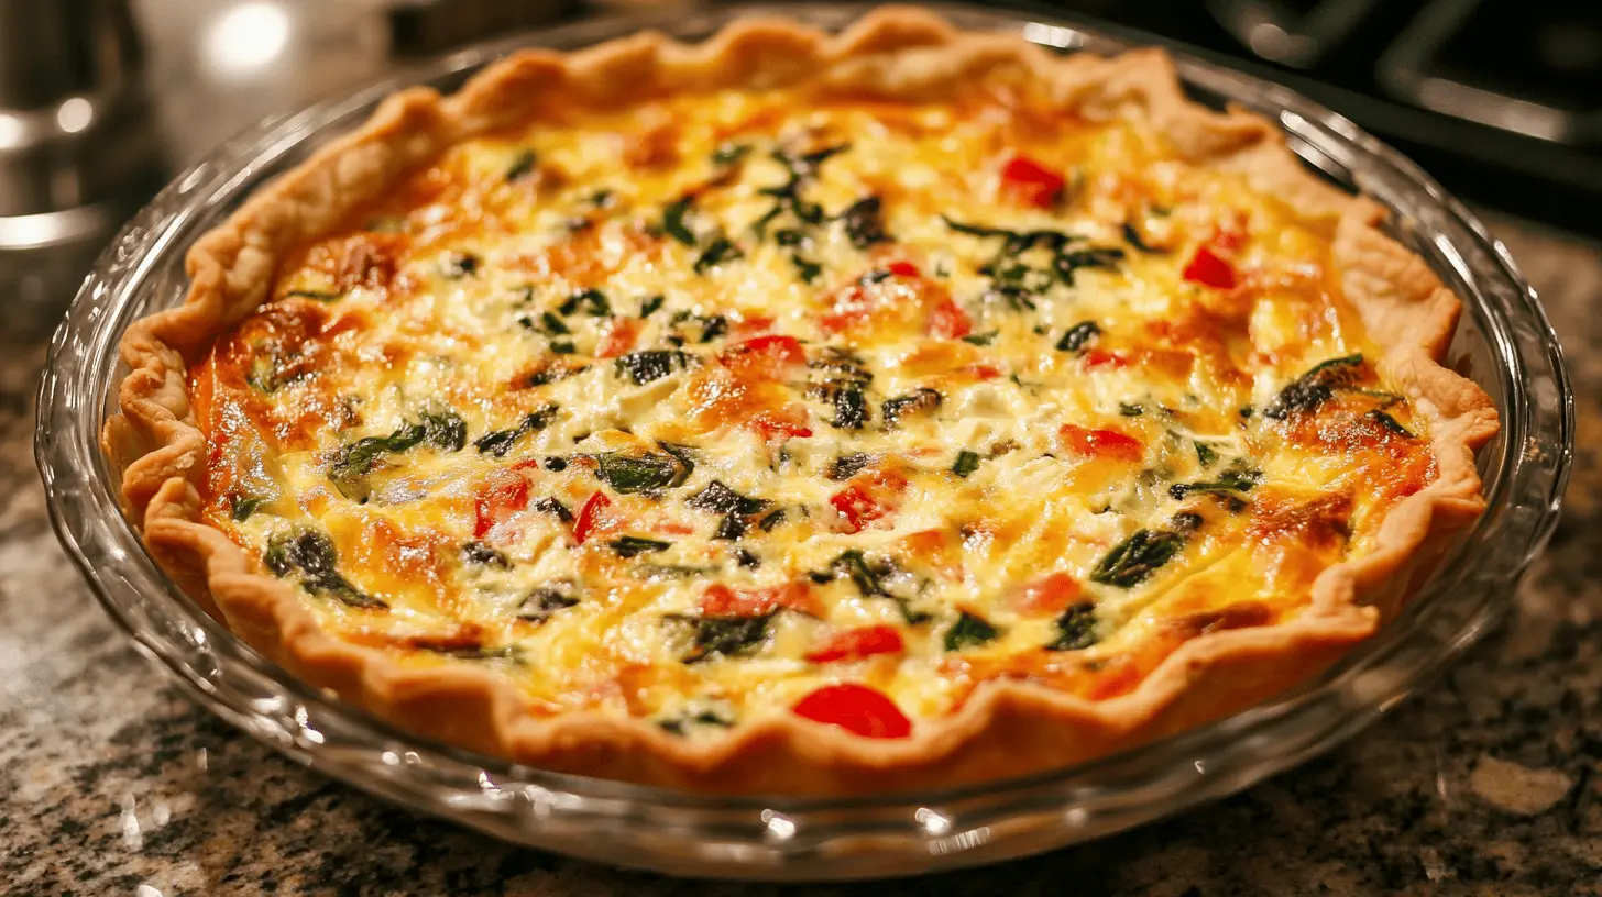
M1009 2L1285 83L1453 192L1602 235L1602 2Z

